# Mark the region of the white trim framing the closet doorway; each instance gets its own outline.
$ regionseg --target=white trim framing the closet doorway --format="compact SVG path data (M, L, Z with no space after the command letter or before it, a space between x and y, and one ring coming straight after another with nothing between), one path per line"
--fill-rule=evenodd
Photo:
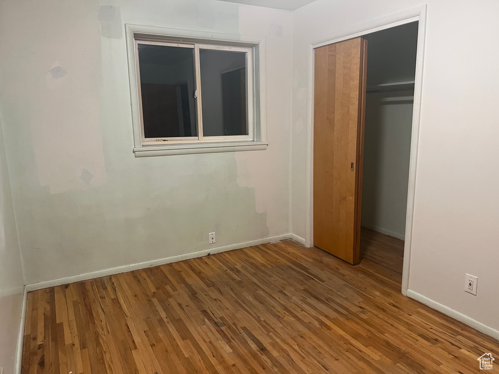
M314 48L337 43L375 31L395 27L401 24L418 21L418 47L416 56L416 78L414 87L414 109L412 119L411 160L409 166L409 189L407 196L407 216L404 246L404 265L402 270L402 294L407 296L409 288L409 270L411 262L412 229L414 215L414 196L416 191L416 170L419 142L419 127L421 118L421 93L423 86L423 61L425 50L427 5L408 9L383 18L378 18L338 32L323 35L311 40L308 47L308 97L311 98L308 106L308 121L310 133L306 145L306 201L305 201L305 245L313 246L313 84L314 84Z

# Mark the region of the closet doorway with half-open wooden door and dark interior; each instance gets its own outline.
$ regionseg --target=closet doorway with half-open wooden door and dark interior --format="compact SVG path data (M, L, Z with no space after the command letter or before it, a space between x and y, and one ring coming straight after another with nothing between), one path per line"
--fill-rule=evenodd
M313 245L350 264L379 262L396 278L417 48L415 21L314 50Z

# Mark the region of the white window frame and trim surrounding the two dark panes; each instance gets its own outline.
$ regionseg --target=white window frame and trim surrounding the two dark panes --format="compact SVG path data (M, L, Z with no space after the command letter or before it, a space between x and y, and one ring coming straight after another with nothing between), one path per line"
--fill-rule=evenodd
M126 24L129 64L132 123L134 128L134 153L136 157L264 150L266 141L264 121L264 55L262 40L241 41L241 35L213 34L203 31L166 29L152 26ZM222 38L219 38L222 36ZM208 37L210 36L210 37ZM245 39L251 39L245 37ZM198 136L182 138L145 138L140 91L138 44L166 45L193 48L196 98L196 126ZM247 68L247 119L248 135L203 135L200 49L224 50L246 53ZM263 87L263 88L262 88Z

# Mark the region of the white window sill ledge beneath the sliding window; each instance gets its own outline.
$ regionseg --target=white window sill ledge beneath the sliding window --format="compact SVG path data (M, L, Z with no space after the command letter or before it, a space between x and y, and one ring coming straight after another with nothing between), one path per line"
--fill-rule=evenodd
M267 149L267 145L267 142L170 144L164 146L143 146L134 148L133 152L135 157L194 155L199 153L262 151Z

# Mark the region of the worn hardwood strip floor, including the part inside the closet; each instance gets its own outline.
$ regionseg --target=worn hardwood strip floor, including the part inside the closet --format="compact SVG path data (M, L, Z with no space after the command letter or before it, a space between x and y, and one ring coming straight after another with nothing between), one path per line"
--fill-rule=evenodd
M403 242L293 241L28 293L23 374L479 373L498 343L400 294Z

